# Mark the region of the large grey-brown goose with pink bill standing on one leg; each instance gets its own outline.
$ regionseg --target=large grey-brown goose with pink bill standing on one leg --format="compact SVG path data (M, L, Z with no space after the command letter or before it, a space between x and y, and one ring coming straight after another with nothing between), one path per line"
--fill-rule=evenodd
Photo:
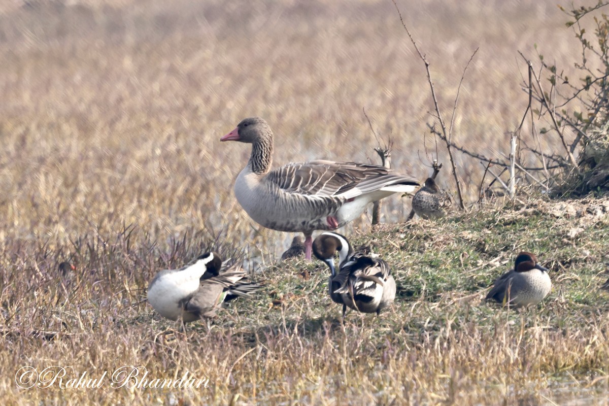
M368 203L418 186L410 175L363 163L316 160L272 169L273 131L260 117L242 120L220 141L252 144L250 159L234 183L235 197L259 225L303 233L308 261L313 231L340 228Z

